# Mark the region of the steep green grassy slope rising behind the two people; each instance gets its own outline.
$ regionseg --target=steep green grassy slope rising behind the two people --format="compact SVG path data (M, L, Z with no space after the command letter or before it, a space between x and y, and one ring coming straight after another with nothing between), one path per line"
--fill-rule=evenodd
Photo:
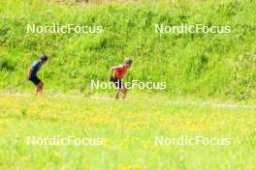
M253 0L61 5L0 2L0 88L16 84L39 54L47 90L87 93L91 79L133 56L126 80L166 81L169 95L255 99L256 22ZM26 25L102 25L102 34L28 34ZM229 25L230 34L156 34L155 23ZM31 84L22 89L31 88Z

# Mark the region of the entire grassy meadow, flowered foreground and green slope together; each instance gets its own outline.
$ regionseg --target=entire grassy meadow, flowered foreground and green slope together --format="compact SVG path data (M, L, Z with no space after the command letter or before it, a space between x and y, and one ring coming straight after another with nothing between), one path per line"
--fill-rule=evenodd
M254 0L1 0L0 169L256 169L255 7ZM26 30L53 23L104 31ZM156 23L228 25L231 33L157 34ZM34 97L24 79L42 53L45 91ZM127 100L90 89L128 56L125 81L164 81L167 89L131 90ZM27 136L56 135L102 138L102 145L27 144ZM161 146L156 136L230 143Z

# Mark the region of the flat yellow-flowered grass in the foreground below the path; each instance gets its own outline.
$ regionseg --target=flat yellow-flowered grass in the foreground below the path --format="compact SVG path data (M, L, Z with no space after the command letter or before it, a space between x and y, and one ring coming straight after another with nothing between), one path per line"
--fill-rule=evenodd
M0 97L1 169L244 169L256 167L255 107L132 95ZM217 103L217 102L215 102ZM101 137L102 146L28 146L26 136ZM229 146L155 146L154 137L230 138Z

